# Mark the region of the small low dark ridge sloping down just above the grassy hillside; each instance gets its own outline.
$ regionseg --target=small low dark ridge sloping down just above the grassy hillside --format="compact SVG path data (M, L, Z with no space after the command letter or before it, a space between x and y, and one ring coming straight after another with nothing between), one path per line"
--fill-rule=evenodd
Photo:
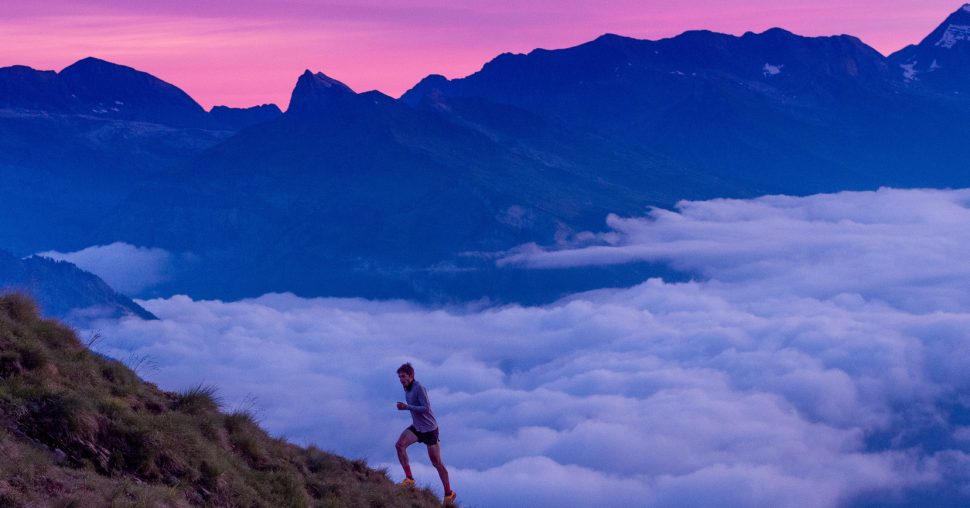
M0 293L12 291L33 297L45 316L76 325L96 318L157 319L100 277L71 263L37 256L20 259L0 250Z

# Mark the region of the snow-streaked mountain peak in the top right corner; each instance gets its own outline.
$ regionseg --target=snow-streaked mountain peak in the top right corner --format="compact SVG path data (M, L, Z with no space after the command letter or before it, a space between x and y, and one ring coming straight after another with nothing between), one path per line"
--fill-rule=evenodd
M946 18L919 44L889 56L893 72L949 94L970 93L970 4Z

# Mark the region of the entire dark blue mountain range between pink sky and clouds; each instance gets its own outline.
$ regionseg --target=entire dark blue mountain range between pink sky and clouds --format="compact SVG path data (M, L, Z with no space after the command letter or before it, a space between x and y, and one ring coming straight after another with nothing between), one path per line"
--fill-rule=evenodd
M402 97L306 71L289 107L205 112L97 59L0 69L18 255L124 241L198 259L146 295L541 301L663 272L497 268L682 199L970 185L970 5L888 57L782 29L604 35ZM594 282L595 281L595 282Z

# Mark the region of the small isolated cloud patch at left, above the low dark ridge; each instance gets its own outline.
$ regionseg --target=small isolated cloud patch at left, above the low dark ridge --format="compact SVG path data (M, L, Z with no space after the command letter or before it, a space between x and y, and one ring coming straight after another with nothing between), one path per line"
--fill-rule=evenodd
M124 242L95 245L77 252L48 251L37 255L71 262L126 295L137 295L169 280L175 269L175 258L168 251Z

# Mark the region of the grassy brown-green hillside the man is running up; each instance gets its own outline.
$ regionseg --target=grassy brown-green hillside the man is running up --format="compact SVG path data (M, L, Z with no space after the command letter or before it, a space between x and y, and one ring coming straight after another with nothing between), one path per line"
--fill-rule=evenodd
M266 434L212 390L173 394L0 296L0 507L439 506L384 471Z

